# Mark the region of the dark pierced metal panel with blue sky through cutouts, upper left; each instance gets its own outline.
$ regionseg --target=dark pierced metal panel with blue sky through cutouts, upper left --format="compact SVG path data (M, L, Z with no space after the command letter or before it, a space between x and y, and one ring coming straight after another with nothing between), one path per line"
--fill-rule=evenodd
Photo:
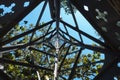
M42 0L1 0L0 1L0 38L24 18Z

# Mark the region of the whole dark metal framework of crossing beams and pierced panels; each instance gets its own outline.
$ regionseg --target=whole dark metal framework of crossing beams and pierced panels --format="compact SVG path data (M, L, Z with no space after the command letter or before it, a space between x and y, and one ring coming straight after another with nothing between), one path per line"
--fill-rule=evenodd
M114 80L115 76L120 75L120 68L117 66L117 64L120 61L119 59L120 57L120 53L119 53L120 52L120 1L119 0L92 0L92 2L90 0L66 0L66 1L71 11L75 26L72 26L70 23L67 23L67 21L64 21L60 18L60 12L61 12L60 0L22 0L22 1L1 0L0 6L4 5L5 7L9 7L10 5L14 4L15 7L11 9L11 11L13 12L9 12L9 13L4 13L4 8L0 7L0 54L4 54L5 52L14 51L17 49L28 48L29 50L34 50L34 51L40 52L41 54L45 54L50 57L55 57L56 58L55 67L57 67L55 69L57 70L54 71L53 69L42 67L40 65L21 63L21 62L12 61L12 60L3 59L3 58L0 58L0 62L13 64L13 65L21 65L21 66L26 66L26 67L31 67L31 68L36 68L36 69L41 69L46 71L52 71L54 72L54 74L56 73L54 80L57 80L57 77L60 77L63 80L73 80L73 77L76 74L77 68L103 62L104 63L103 68L100 70L99 74L93 80ZM25 7L24 6L25 2L29 2L29 6ZM40 12L40 15L38 17L35 27L31 30L28 30L15 37L12 37L6 40L5 39L6 34L12 28L14 28L14 26L19 21L21 21L28 13L30 13L41 2L44 2L44 5L42 7L42 10ZM49 4L50 15L52 20L44 23L43 25L39 25L39 22L42 19L47 3ZM94 29L96 29L96 31L102 36L102 38L104 39L104 42L94 38L90 34L79 29L79 25L77 23L72 5L74 5L76 9L78 9L78 11L81 12L84 15L84 17L92 24ZM87 7L87 9L85 9L85 7ZM55 23L56 27L50 30L53 23ZM66 31L63 31L61 29L60 24L64 26ZM33 36L35 32L46 26L49 26L46 33L38 37L37 39L33 40ZM76 31L79 34L80 40L71 36L67 28L70 28ZM18 40L29 34L32 34L32 35L28 43L7 46L7 44L10 44L11 42ZM90 40L93 40L94 42L96 42L102 47L85 44L81 35L89 38ZM50 42L52 39L56 37L58 38L58 42L59 40L62 40L63 42L62 45L59 47L60 51L58 51L58 44L57 44L57 47L55 47ZM43 44L44 46L47 46L51 50L56 49L57 54L62 54L64 51L64 48L66 48L66 45L68 45L65 55L63 56L63 59L60 61L59 66L58 66L59 56L33 47L34 45L39 45L39 44ZM74 45L79 47L79 50L70 52L70 48ZM89 49L92 51L103 53L105 55L105 60L78 66L77 65L78 60L84 49ZM63 63L67 55L71 55L72 53L77 54L73 67L65 70L62 69ZM61 75L62 72L64 71L71 71L70 74L68 75L68 79L66 79ZM11 80L10 77L7 76L7 74L5 74L2 70L0 70L0 79L1 78L4 80Z

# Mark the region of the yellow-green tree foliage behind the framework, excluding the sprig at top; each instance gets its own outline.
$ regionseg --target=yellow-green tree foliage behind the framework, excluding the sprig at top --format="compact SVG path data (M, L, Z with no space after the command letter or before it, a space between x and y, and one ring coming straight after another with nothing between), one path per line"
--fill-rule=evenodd
M43 23L44 24L44 23ZM42 25L42 24L41 24ZM25 31L28 31L30 28L32 28L33 25L31 24L30 26L20 26L16 25L15 28L13 28L6 36L6 39L10 39L20 33L23 33ZM33 36L33 39L37 39L40 36L44 35L46 33L46 29L48 26L38 30L39 34L35 34ZM30 41L31 35L26 35L21 39L18 39L16 41L11 42L9 45L18 45L18 44L25 44ZM55 49L50 49L47 46L43 44L39 45L34 45L32 46L36 49L44 49L43 51L53 53L55 54ZM62 54L60 55L60 62L63 60L63 56L65 56L66 51L68 49L68 46L62 48L61 50L63 51ZM69 50L69 52L74 52L79 50L79 47L77 46L72 46ZM72 69L72 65L75 62L75 59L77 57L78 52L72 53L70 55L66 56L66 59L62 65L61 72L59 73L59 76L68 76L70 74L70 70ZM98 63L97 65L95 64L90 64L94 63L95 61L99 61L101 55L99 52L95 52L95 54L82 54L81 58L79 58L78 65L76 68L76 72L73 78L81 78L82 80L90 80L91 76L95 76L98 74L99 69L101 69L102 64ZM4 59L9 59L9 60L14 60L14 61L19 61L23 63L28 63L28 64L37 64L43 67L48 67L51 69L54 69L54 57L50 57L49 55L43 54L42 52L38 52L35 50L29 50L27 48L24 49L16 49L12 50L10 52L5 52L3 54ZM80 66L82 65L82 66ZM14 80L37 80L37 73L36 71L39 71L39 74L43 80L45 77L49 77L53 79L53 72L45 71L45 70L36 70L34 68L28 68L28 67L23 67L19 65L12 65L12 64L4 64L4 71L9 74L9 76L12 77Z

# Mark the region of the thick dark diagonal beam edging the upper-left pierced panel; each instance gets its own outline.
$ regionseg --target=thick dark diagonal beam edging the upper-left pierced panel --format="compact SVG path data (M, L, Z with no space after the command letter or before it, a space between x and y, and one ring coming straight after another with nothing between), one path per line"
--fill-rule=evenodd
M10 31L14 25L16 25L20 20L22 20L30 11L32 11L38 4L40 4L43 0L31 0L30 6L28 8L26 8L23 12L21 12L21 14L19 14L13 21L10 22L10 24L4 26L4 29L2 29L2 31L0 32L0 39L2 39L2 37L4 35L6 35L8 33L8 31Z

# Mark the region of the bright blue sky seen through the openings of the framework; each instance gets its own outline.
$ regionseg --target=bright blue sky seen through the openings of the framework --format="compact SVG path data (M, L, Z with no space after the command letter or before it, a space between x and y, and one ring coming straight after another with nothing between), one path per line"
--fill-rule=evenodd
M11 5L11 6L14 6L14 4ZM26 3L25 6L27 7L27 6L29 6L29 4ZM28 24L32 23L33 25L35 25L36 22L37 22L38 16L40 14L40 11L42 9L42 6L43 6L43 2L40 5L38 5L30 14L28 14L19 24L22 25L22 24L24 24L24 21L28 21ZM4 7L4 6L0 6L0 8L2 8L2 7ZM9 10L6 10L6 11L10 12ZM80 30L82 30L82 31L88 33L89 35L94 36L95 38L99 39L99 36L97 35L96 31L93 29L92 25L83 17L83 15L80 12L76 11L75 16L76 16L76 19L77 19ZM64 9L61 9L60 17L65 22L75 26L72 15L71 14L66 14ZM50 12L49 12L49 8L48 8L48 5L47 5L46 10L43 14L43 17L41 19L41 22L48 22L50 20L51 20ZM61 25L60 25L60 27L61 27ZM79 37L78 33L76 33L72 29L68 29L68 30L69 30L68 32L71 36L78 39L78 37ZM92 41L92 40L90 40L90 39L88 39L84 36L82 36L82 37L83 37L83 40L84 40L85 44L95 43L94 41ZM91 53L91 52L92 52L91 50L84 50L83 54ZM102 55L101 58L104 58L104 56ZM78 80L78 79L75 79L75 80Z

